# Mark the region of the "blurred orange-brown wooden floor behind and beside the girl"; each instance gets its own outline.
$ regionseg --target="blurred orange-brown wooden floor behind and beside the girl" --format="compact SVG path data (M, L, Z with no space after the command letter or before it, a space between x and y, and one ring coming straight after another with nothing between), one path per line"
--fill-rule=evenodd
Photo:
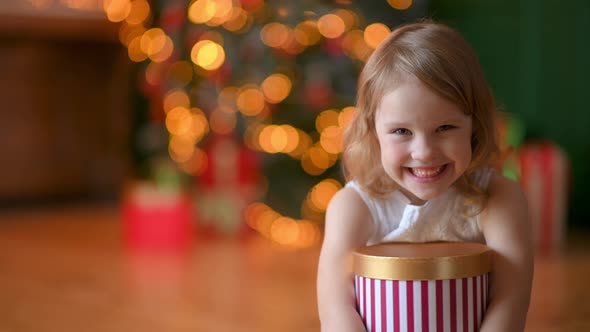
M590 331L590 236L538 258L527 332ZM319 331L319 249L126 249L114 207L0 211L0 332Z

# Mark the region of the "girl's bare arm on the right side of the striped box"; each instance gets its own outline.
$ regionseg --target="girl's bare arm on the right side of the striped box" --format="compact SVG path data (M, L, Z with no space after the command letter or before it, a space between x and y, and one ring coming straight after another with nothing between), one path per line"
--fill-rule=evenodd
M522 332L533 279L528 205L519 185L501 176L490 183L481 215L486 244L494 250L490 302L481 332Z

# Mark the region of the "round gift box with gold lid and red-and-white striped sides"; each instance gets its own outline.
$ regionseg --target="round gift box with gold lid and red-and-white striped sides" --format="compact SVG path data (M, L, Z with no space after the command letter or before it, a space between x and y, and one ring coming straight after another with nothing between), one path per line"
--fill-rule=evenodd
M388 243L353 253L367 331L477 331L492 250L479 243Z

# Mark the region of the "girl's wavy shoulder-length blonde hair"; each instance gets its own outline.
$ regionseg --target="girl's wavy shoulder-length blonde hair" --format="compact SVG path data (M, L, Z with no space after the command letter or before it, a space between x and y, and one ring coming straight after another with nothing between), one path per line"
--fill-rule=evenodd
M471 201L484 203L487 194L471 176L478 168L491 165L498 153L494 97L469 44L455 30L431 21L395 29L363 68L357 110L344 134L346 179L355 180L373 196L397 188L381 164L375 113L383 96L408 77L419 79L472 116L472 159L455 185Z

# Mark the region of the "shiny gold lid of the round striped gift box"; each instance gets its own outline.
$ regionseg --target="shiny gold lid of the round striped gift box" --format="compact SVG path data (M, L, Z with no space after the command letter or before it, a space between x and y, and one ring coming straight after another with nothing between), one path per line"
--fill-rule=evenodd
M485 274L492 250L480 243L386 243L357 249L354 274L387 280L444 280Z

